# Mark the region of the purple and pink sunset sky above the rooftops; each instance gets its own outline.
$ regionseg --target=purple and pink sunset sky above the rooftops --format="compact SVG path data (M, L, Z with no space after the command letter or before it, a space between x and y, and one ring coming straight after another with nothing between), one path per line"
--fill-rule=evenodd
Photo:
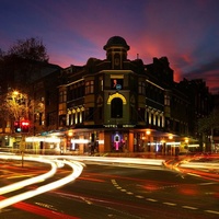
M219 0L0 0L0 49L43 41L49 62L83 66L105 59L122 36L145 65L168 57L174 81L203 79L219 93Z

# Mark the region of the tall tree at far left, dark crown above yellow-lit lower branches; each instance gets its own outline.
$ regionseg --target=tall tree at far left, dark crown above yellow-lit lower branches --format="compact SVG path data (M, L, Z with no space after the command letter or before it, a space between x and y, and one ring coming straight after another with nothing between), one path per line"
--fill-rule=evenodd
M28 89L42 69L48 65L48 55L38 38L19 39L8 51L0 49L0 127L12 127L13 122L25 117L26 103L13 96L13 91L28 95ZM28 96L30 97L30 96Z

